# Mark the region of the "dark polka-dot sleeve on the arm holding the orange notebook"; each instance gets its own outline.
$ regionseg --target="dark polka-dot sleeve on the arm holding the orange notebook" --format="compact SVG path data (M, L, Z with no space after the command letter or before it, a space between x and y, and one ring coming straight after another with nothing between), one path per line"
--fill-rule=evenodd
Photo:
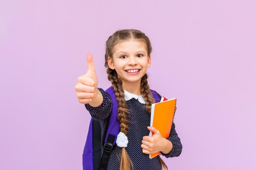
M180 138L178 137L178 134L175 131L175 124L172 124L171 133L169 137L167 138L169 141L173 144L173 149L169 154L161 153L161 155L164 155L165 157L177 157L181 154L182 151L182 144L180 142Z

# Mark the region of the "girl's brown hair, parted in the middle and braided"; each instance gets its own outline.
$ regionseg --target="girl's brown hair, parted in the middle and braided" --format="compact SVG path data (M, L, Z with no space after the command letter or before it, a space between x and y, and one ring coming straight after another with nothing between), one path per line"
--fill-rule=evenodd
M108 73L108 80L112 83L112 87L114 88L115 95L117 96L117 103L118 103L118 120L120 121L120 131L127 135L127 129L130 124L128 121L128 110L126 107L126 100L124 99L124 89L122 87L122 81L117 76L117 72L112 70L108 66L108 57L113 57L113 51L115 45L117 45L121 41L128 41L130 39L136 39L138 41L142 41L146 44L146 49L148 55L150 55L152 51L152 46L150 43L149 38L139 30L135 29L126 29L126 30L119 30L111 35L108 40L106 41L106 54L105 54L105 67L107 68ZM146 101L146 111L150 113L151 105L155 103L155 99L153 98L149 85L148 85L148 75L145 74L141 78L141 87L140 92L141 96ZM162 164L163 168L167 169L166 164L164 161L159 157L159 160ZM130 170L130 166L132 166L132 162L126 152L126 149L122 148L121 153L121 162L120 162L120 170ZM132 167L133 169L133 167Z

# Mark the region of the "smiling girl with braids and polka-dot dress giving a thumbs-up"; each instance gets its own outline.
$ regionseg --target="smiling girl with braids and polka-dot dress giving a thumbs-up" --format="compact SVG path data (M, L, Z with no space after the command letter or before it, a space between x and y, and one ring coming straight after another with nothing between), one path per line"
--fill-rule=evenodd
M108 170L167 169L159 156L150 159L148 154L161 151L165 157L177 157L182 151L175 124L167 139L157 129L149 127L151 105L155 103L146 74L151 51L148 37L134 29L119 30L106 41L105 67L118 103L118 136L121 137L117 137L117 141L118 138L123 141L121 144L117 142L117 147L110 153ZM106 131L113 102L107 92L97 88L98 79L91 54L87 54L87 62L88 72L78 78L76 96L80 103L85 104L92 118L101 122L103 132ZM149 131L154 133L152 137L148 136Z

